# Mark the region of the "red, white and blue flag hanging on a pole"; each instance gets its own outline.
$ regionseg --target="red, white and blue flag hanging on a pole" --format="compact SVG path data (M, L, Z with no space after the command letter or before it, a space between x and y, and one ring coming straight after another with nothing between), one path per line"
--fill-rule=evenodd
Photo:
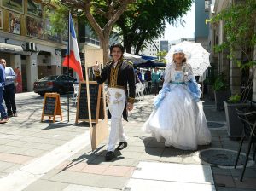
M63 67L68 67L68 62L69 62L69 67L73 68L73 70L77 72L79 76L79 80L84 81L83 70L82 70L81 60L79 55L79 45L76 38L76 32L74 30L73 19L71 17L71 14L69 14L69 25L70 25L70 32L68 36L69 36L70 49L68 49L68 46L67 46L67 55L62 65Z

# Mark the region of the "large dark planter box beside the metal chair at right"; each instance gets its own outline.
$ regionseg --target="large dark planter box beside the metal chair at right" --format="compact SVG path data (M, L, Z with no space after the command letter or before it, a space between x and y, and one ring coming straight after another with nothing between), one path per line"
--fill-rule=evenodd
M241 137L243 124L241 119L238 119L236 114L236 107L249 107L250 103L228 103L224 101L224 109L228 127L228 134L230 140L237 140Z

